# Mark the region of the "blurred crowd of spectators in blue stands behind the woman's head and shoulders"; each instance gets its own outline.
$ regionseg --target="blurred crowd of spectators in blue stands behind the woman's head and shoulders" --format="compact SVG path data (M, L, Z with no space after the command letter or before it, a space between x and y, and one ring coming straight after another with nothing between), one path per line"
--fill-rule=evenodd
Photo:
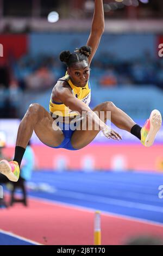
M39 94L52 89L66 67L58 56L23 56L9 63L0 62L0 118L17 118L20 98L31 92ZM103 53L91 64L91 86L157 86L163 89L163 60L153 59L148 52L141 59L123 61L114 54Z

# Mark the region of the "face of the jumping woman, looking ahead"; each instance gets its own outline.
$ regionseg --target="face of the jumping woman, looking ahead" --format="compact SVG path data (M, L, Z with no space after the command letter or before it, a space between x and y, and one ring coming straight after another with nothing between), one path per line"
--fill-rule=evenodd
M67 68L71 81L78 87L85 87L90 76L90 68L86 60L74 63L73 66Z

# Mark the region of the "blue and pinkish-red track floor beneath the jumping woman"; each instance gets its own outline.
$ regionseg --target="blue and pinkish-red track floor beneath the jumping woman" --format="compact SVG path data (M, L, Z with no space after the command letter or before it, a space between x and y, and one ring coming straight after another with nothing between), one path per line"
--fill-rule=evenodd
M163 239L161 173L45 170L34 172L28 185L27 207L0 209L0 245L93 245L96 210L102 245L138 235Z

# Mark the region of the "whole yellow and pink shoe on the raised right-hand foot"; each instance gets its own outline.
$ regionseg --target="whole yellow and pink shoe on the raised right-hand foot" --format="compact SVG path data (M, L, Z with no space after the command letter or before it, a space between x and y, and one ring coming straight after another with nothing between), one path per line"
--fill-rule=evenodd
M151 147L153 145L156 133L160 130L161 124L161 113L157 109L154 109L141 129L141 143L145 147Z

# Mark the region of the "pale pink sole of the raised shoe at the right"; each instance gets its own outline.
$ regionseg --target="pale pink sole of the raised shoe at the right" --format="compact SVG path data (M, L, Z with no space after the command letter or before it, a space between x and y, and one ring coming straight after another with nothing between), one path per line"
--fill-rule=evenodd
M156 133L160 130L160 127L162 124L161 113L157 109L154 109L151 112L149 119L150 119L150 129L145 141L146 147L151 147L153 145Z

